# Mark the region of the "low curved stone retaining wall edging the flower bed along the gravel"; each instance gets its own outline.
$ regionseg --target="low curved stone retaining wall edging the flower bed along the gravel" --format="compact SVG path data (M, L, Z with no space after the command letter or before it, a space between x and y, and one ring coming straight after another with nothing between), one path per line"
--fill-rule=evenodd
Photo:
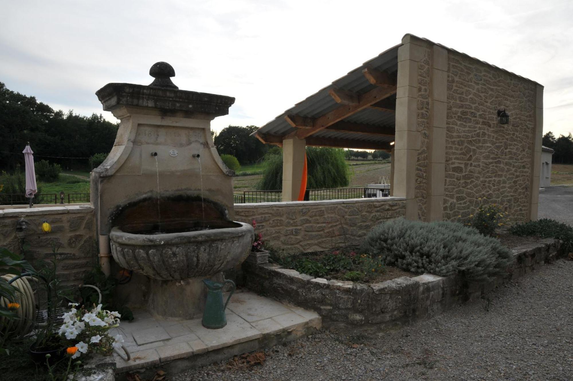
M330 321L390 327L431 317L453 305L479 298L504 282L539 269L555 258L558 248L556 239L514 248L515 260L508 274L484 282L467 282L457 275L423 274L365 285L314 278L272 263L244 263L243 269L246 286L265 296L315 310Z

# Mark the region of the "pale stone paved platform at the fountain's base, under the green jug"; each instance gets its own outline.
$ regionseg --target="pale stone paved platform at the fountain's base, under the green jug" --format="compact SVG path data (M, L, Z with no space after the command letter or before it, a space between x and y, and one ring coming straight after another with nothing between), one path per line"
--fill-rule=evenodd
M122 322L120 328L112 332L113 335L120 333L124 336L125 347L132 357L124 361L114 353L116 373L188 357L193 359L193 356L231 345L256 343L256 340L264 337L293 332L298 328L320 328L321 325L321 318L316 312L284 305L248 291L234 294L225 314L225 327L207 329L202 326L200 318L156 320L147 312L135 311L134 321Z

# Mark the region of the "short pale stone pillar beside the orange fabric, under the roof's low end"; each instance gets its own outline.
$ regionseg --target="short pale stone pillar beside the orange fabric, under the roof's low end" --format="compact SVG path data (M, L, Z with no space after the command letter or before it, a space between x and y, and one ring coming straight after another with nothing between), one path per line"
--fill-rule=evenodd
M282 201L299 199L306 147L305 139L294 137L282 141Z

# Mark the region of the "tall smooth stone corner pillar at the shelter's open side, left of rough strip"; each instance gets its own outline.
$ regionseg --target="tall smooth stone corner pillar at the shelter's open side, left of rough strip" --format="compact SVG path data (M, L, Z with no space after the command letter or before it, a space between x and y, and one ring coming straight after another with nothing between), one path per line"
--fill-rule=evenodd
M406 219L418 219L415 199L415 171L420 133L417 126L418 62L424 54L423 42L406 34L398 48L396 93L396 133L394 144L394 196L406 198Z

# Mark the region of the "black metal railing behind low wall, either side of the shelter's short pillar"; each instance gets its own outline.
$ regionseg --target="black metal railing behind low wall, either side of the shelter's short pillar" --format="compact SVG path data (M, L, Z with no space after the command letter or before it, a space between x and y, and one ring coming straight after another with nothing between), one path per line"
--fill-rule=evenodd
M307 189L305 201L367 199L372 197L388 197L390 189L380 188L330 188ZM243 195L233 195L236 204L244 203L276 203L282 201L282 190L248 190Z

